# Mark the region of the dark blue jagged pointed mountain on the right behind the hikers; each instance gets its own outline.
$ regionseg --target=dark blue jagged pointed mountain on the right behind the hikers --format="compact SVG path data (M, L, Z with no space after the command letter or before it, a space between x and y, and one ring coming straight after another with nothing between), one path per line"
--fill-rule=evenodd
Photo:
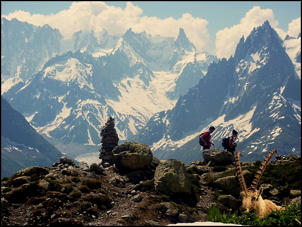
M299 38L300 39L300 38ZM300 60L296 57L297 62ZM262 160L263 152L301 154L301 80L268 21L242 37L234 57L211 63L198 85L172 110L154 115L137 140L152 146L159 159L201 160L201 131L214 125L215 147L233 129L243 161Z

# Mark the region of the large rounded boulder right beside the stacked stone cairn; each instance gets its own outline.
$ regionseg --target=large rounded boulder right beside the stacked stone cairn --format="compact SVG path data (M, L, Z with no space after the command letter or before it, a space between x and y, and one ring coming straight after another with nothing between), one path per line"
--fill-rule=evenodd
M114 165L119 171L134 171L147 167L153 160L148 145L138 142L125 142L113 151Z

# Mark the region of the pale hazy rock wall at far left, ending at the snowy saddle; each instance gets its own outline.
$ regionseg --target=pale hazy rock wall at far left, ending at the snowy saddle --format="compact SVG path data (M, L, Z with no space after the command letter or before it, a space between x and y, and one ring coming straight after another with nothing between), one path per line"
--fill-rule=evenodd
M1 94L11 85L26 82L45 61L60 51L59 30L1 18ZM2 86L6 81L5 86Z

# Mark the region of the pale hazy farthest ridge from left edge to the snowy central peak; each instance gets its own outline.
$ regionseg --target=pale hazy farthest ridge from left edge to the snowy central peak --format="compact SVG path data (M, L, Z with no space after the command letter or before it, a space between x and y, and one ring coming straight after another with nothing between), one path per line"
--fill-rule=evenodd
M16 18L1 18L1 94L18 82L26 82L51 57L76 50L104 55L120 37L103 30L78 31L72 38L64 39L59 30L48 24L40 27Z

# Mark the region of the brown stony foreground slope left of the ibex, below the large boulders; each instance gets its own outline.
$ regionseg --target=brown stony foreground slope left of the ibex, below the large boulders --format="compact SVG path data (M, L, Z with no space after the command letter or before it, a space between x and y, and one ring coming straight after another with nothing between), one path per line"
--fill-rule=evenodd
M198 165L203 172L193 173ZM221 190L209 186L209 179L221 174L213 168L200 161L187 166L194 181L192 187L198 193L167 196L156 192L154 179L131 182L114 166L104 168L100 174L68 164L61 168L33 167L36 170L31 174L21 172L15 179L2 180L1 225L141 226L205 222L213 204L223 208L217 200ZM226 166L225 171L228 170L235 170L235 166Z

